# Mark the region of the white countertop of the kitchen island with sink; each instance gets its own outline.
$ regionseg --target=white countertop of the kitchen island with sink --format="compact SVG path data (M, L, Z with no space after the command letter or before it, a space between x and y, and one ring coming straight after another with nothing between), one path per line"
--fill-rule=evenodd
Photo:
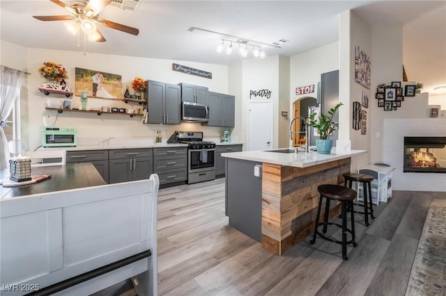
M299 151L297 154L295 154L258 150L222 153L222 156L227 158L242 159L245 161L257 161L260 163L288 165L290 167L310 167L312 165L319 165L321 163L337 161L339 159L365 153L367 153L367 150L351 150L348 152L338 152L336 151L336 147L333 147L331 154L318 154L316 151L310 151L308 153L305 151Z

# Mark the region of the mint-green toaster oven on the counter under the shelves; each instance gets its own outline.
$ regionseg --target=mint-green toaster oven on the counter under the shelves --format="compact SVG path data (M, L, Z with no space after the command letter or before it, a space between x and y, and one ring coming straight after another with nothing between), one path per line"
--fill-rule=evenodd
M74 127L42 126L43 147L75 147L77 130Z

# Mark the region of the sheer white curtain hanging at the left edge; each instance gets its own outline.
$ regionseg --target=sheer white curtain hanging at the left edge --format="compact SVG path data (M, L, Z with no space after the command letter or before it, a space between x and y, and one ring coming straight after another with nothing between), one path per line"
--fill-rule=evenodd
M3 126L6 126L6 119L8 118L15 100L20 94L22 87L22 79L24 72L11 69L9 67L1 66L1 80L0 80L0 170L8 167L7 161L9 158L8 141L6 140Z

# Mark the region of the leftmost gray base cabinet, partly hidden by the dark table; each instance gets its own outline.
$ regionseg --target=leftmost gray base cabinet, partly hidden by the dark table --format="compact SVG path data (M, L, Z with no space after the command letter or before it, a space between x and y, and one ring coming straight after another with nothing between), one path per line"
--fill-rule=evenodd
M106 183L109 183L109 151L81 150L67 151L67 163L93 163Z

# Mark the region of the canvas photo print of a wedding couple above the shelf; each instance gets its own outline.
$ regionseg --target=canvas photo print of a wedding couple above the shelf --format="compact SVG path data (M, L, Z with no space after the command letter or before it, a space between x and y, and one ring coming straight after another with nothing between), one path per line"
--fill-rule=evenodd
M122 99L121 75L94 69L75 68L75 95L101 99Z

